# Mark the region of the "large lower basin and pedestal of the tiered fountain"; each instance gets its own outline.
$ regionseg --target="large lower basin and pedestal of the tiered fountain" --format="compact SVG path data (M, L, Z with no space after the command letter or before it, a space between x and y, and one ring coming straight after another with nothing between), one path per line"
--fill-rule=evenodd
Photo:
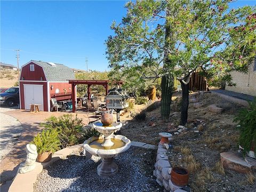
M131 141L123 135L110 135L114 145L106 149L101 146L103 138L94 136L84 141L84 149L94 156L101 157L101 164L97 167L100 176L110 177L118 172L118 165L114 162L114 157L123 153L131 147Z

